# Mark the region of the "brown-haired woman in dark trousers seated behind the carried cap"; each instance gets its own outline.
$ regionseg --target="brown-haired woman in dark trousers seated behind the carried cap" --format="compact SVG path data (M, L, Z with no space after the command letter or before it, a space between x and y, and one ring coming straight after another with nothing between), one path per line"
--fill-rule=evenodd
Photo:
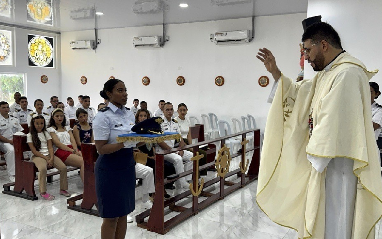
M135 124L138 124L139 122L149 119L150 113L147 111L147 109L139 109L135 115ZM154 145L151 143L146 143L145 145L142 145L138 147L138 151L142 153L147 153L147 163L146 166L151 167L154 171L154 179L155 179L155 149ZM164 161L164 174L165 177L170 176L172 174L175 174L175 168L174 165L168 161ZM170 195L168 195L165 192L165 198L170 198Z

